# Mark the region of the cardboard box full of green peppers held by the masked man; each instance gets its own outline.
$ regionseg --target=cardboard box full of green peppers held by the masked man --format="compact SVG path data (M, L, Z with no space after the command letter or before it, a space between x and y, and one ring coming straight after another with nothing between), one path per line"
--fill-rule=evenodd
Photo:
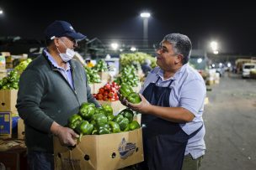
M130 109L83 103L67 126L80 137L75 147L62 147L54 137L55 169L119 169L143 161L141 126Z

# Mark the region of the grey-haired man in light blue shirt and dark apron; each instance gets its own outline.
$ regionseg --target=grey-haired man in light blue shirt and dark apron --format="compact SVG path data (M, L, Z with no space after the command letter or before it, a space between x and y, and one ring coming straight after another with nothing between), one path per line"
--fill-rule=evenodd
M170 33L157 49L157 65L141 89L141 102L122 104L141 113L141 169L198 170L205 154L205 81L189 66L192 44Z

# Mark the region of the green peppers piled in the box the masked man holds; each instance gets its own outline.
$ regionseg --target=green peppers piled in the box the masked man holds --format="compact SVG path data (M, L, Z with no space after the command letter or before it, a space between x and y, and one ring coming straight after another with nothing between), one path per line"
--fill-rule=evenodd
M114 116L113 108L109 105L97 108L93 103L83 103L79 112L68 119L67 126L80 135L81 141L83 135L103 135L140 128L139 123L133 121L133 116L130 109Z

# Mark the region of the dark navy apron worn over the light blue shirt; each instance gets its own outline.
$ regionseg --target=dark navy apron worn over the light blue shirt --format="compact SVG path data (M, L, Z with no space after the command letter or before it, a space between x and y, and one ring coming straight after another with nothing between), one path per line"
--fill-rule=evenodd
M160 77L157 79L157 81ZM159 87L156 83L150 83L143 91L142 95L154 106L170 107L169 96L171 90L169 86ZM142 114L144 162L141 169L151 170L180 170L184 160L184 152L190 137L200 131L200 128L187 135L179 123L165 121L157 116Z

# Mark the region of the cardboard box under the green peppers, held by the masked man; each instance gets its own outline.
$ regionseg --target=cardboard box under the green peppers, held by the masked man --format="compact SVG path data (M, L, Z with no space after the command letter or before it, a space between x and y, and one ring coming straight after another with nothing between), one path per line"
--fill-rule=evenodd
M62 147L54 137L55 169L112 170L144 161L142 131L88 135L75 148Z

